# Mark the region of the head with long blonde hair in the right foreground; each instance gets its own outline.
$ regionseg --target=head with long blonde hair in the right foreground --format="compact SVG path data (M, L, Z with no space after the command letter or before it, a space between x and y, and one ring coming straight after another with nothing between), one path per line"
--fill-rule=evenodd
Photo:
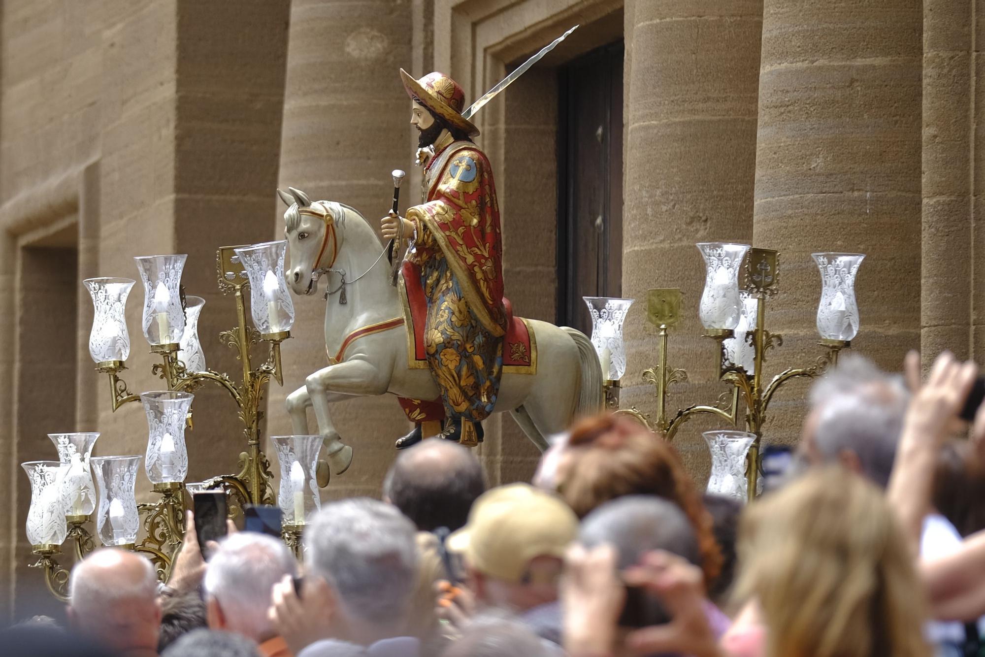
M814 469L751 505L737 595L755 598L766 657L921 657L924 592L883 493L843 468Z

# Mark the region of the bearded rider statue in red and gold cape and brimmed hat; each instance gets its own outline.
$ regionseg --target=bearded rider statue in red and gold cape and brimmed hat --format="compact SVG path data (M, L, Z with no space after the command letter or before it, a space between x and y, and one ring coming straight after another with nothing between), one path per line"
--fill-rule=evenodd
M404 275L420 278L427 300L427 365L441 399L400 400L415 427L396 446L420 442L422 424L435 420L443 425L440 437L473 446L483 439L481 423L493 412L499 391L506 329L493 170L472 141L479 130L462 116L465 94L458 83L436 72L420 80L403 69L400 75L413 101L419 154L427 153L419 158L425 164L425 199L406 218L384 217L382 233L409 240L411 266Z

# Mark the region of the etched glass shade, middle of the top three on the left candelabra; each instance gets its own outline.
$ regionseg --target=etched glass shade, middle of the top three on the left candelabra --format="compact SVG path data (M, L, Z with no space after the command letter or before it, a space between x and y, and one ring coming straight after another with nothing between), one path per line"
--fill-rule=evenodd
M176 345L184 334L180 288L187 257L178 254L134 258L144 282L144 337L151 345Z

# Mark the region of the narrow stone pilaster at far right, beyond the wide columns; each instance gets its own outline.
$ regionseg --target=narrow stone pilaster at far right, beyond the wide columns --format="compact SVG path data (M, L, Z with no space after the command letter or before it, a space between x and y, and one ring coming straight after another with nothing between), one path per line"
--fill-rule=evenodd
M924 0L920 351L971 352L973 2Z

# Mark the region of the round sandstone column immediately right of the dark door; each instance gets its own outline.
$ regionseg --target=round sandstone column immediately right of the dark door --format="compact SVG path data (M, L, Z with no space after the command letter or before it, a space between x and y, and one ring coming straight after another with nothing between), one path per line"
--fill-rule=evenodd
M700 337L704 266L694 243L753 236L760 22L758 0L626 7L623 295L637 301L624 330L624 407L654 408L640 377L656 358L649 288L685 293L670 359L690 376L672 388L668 409L713 403L725 390L715 380L715 344ZM713 426L697 419L677 434L692 473L707 471L698 432Z

